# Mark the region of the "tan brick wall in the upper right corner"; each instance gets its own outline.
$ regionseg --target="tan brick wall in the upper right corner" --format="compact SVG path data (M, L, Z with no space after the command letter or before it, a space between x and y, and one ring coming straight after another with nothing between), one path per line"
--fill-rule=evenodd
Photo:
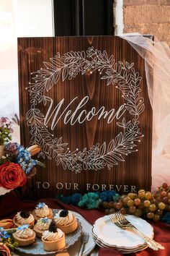
M124 33L156 35L170 46L170 0L124 0Z

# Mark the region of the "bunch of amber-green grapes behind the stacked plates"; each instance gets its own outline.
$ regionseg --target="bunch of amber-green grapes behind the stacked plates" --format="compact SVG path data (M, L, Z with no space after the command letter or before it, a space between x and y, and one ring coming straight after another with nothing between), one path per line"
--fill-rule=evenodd
M122 214L133 214L138 217L160 221L166 211L170 211L170 185L163 183L156 192L145 189L138 193L130 192L121 195L117 201L103 202L106 214L120 211Z

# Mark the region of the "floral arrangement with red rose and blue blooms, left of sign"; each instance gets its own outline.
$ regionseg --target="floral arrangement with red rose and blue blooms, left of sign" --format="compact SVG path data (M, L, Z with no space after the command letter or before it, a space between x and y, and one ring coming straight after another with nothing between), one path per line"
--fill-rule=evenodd
M4 195L11 189L22 187L36 173L35 166L44 165L32 158L40 153L40 147L33 145L24 148L12 140L11 122L7 118L0 119L0 143L3 152L0 155L0 195Z

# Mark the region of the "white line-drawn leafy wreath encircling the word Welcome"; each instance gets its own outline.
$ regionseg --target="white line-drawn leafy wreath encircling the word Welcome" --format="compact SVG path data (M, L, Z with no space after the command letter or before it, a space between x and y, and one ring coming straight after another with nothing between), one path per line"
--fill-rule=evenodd
M63 56L58 53L50 58L50 62L44 62L45 68L41 68L32 76L33 82L29 82L26 88L30 93L30 110L27 111L27 125L30 126L31 140L30 144L38 144L42 148L40 155L48 159L55 159L56 165L62 164L66 170L79 173L82 170L99 170L107 166L108 169L117 165L119 161L125 161L125 155L133 153L137 147L136 142L140 142L141 134L139 125L139 116L144 111L144 99L140 97L141 77L135 72L134 64L125 64L122 61L115 62L114 56L107 56L106 51L99 51L94 47L85 51L70 51ZM99 72L101 80L107 80L108 85L116 85L125 99L125 108L133 119L126 121L125 117L117 126L121 127L120 132L115 139L112 139L107 145L97 143L89 150L71 150L68 143L63 142L63 138L53 138L53 134L48 131L44 124L45 116L38 108L39 103L44 106L48 103L48 92L53 86L57 85L58 80L62 81L73 79L77 74L92 74ZM104 75L102 75L104 74ZM40 156L39 155L39 156Z

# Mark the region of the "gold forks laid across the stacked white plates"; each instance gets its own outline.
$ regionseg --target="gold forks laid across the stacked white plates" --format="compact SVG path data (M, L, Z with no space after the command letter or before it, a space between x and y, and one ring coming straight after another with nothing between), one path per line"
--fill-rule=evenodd
M143 234L141 231L139 231L135 226L133 226L133 224L130 223L130 221L128 221L127 218L125 218L125 216L122 215L122 213L120 213L120 212L119 213L114 213L111 216L109 216L109 218L111 219L111 221L113 223L115 223L117 226L119 226L120 229L133 229L134 231L138 232L138 234L140 234L140 236L142 236L144 241L152 249L154 249L154 250L165 249L161 244L159 244L158 242L149 238L148 236Z

